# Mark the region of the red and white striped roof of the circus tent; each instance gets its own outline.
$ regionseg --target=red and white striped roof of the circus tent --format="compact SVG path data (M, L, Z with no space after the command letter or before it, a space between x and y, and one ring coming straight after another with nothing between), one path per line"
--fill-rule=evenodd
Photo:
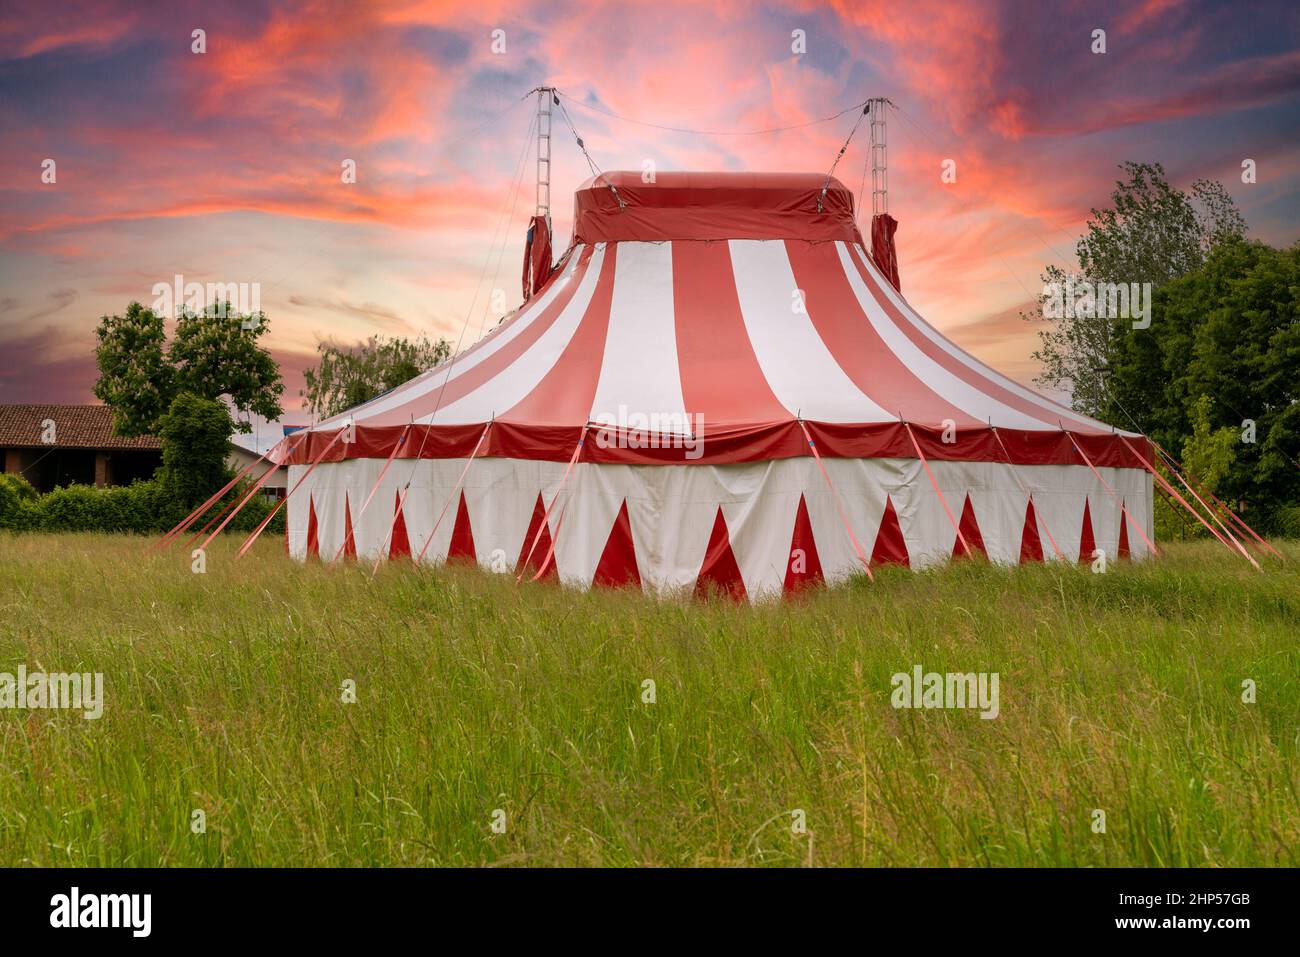
M325 460L484 454L696 462L807 454L1140 467L1124 434L978 361L930 326L872 263L853 196L824 174L611 173L576 195L573 243L491 334L422 376L320 423L292 451ZM820 212L819 212L820 208ZM911 429L907 429L907 425ZM994 432L996 430L996 432ZM1069 434L1067 434L1069 433ZM663 442L645 441L645 436ZM1072 436L1072 441L1071 441ZM1141 439L1136 439L1141 441Z

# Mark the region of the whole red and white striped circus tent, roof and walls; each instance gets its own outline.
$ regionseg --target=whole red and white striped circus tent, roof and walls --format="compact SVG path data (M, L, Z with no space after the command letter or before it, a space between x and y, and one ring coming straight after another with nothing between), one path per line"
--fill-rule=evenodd
M512 317L294 437L290 553L750 598L967 551L1147 554L1148 441L926 324L826 182L585 183Z

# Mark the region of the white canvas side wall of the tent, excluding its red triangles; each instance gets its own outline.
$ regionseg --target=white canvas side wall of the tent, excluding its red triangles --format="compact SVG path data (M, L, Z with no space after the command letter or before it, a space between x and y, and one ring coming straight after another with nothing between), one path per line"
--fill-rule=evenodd
M888 495L897 512L913 567L948 560L956 532L940 505L920 462L915 459L827 459L853 531L871 553ZM464 459L398 460L389 469L374 501L361 514L361 503L382 459L322 463L289 502L290 553L307 557L308 510L315 508L320 555L333 559L343 542L344 498L354 520L358 554L374 558L386 549L398 490L407 482L403 515L413 553L419 553L438 514L447 506L428 553L426 563L446 555L456 523L460 493L456 481ZM966 497L992 560L1019 562L1026 521L1026 497L1005 464L985 462L932 462L944 495L956 516ZM290 488L304 465L290 468ZM1152 536L1152 480L1138 469L1100 469L1126 501L1135 520ZM1050 529L1066 558L1080 558L1084 506L1096 547L1114 558L1119 541L1119 508L1092 472L1082 465L1034 465L1017 469L1034 495L1040 520L1043 553L1052 546ZM551 502L564 473L564 463L481 458L464 484L476 558L497 571L514 572L538 493ZM816 463L811 458L780 459L734 465L607 465L578 464L566 485L560 508L551 515L552 533L563 510L556 540L560 577L588 586L624 502L632 525L636 562L647 592L671 593L694 586L714 528L718 508L751 598L780 593L790 557L800 497L807 503L820 564L829 581L858 568L845 532ZM1130 528L1134 558L1145 557L1141 536ZM1091 555L1086 555L1091 560Z

